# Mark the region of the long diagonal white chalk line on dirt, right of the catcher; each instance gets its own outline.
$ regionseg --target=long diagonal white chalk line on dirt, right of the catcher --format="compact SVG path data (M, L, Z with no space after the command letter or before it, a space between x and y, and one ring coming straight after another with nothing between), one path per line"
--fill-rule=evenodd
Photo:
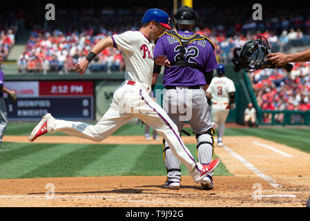
M265 180L266 182L268 182L271 186L273 186L274 188L282 188L282 186L280 184L278 184L277 182L275 182L275 180L273 180L273 178L265 175L264 173L262 173L262 171L260 171L259 169L257 169L255 166L253 166L253 164L251 164L250 162L246 161L242 156L240 156L238 153L235 153L235 151L233 151L231 148L229 148L228 146L224 145L223 148L226 151L229 151L229 153L231 153L231 155L233 155L233 157L235 157L237 160L239 160L240 162L242 162L242 164L244 164L244 166L246 166L246 168L248 168L250 171L252 171L253 173L255 173L256 175L258 175L259 177L261 177L263 180Z

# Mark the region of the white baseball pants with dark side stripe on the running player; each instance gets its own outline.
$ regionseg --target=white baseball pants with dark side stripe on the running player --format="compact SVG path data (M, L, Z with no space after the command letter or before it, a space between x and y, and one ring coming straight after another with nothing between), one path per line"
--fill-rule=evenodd
M130 119L138 117L164 137L173 153L186 166L191 177L196 181L200 177L202 164L195 162L180 138L177 126L162 107L149 96L150 91L151 88L146 84L124 81L115 90L110 108L95 126L83 122L52 119L48 124L48 132L62 132L101 142Z

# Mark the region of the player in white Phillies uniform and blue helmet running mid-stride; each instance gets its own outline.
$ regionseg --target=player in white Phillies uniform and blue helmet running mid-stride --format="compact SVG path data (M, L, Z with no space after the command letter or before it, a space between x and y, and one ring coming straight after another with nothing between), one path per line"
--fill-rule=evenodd
M110 108L95 126L83 122L55 119L47 113L30 134L30 142L43 134L55 132L101 142L117 128L137 117L164 137L195 182L200 182L211 173L220 160L217 158L209 165L195 162L180 138L177 126L149 95L154 66L153 41L162 35L166 28L171 29L168 21L169 16L166 12L151 8L145 12L142 19L143 26L139 31L130 30L101 39L87 57L75 66L77 73L83 75L90 61L105 48L115 47L122 51L126 64L125 81L115 90ZM157 62L161 65L168 65L164 56L157 57Z

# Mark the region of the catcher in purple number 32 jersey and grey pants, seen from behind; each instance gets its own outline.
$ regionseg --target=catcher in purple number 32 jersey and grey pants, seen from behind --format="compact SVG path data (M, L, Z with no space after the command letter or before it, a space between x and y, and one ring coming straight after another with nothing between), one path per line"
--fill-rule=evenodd
M217 68L214 46L204 36L195 35L193 28L198 15L193 8L181 7L173 16L175 30L165 32L156 41L154 50L154 88L160 68L164 69L163 108L181 133L188 121L197 139L197 158L201 164L209 164L214 156L214 129L211 124L209 105L205 91ZM163 61L159 63L157 59ZM173 155L168 143L163 140L164 159L167 169L168 189L179 189L181 181L180 160ZM213 173L201 182L204 189L213 189Z

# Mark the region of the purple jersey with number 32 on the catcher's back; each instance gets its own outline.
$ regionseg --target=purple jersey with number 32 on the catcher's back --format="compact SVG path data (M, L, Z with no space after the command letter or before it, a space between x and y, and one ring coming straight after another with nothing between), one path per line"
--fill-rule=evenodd
M177 33L185 38L195 35L193 32L187 30L178 30ZM157 40L154 57L166 55L168 60L173 63L178 54L180 54L180 42L175 37L165 34ZM205 72L217 68L213 46L206 39L192 41L188 44L186 46L185 59L189 63L194 63L202 67L202 70ZM171 66L171 68L165 68L164 70L164 86L195 86L205 84L206 79L204 79L204 74L197 68Z

